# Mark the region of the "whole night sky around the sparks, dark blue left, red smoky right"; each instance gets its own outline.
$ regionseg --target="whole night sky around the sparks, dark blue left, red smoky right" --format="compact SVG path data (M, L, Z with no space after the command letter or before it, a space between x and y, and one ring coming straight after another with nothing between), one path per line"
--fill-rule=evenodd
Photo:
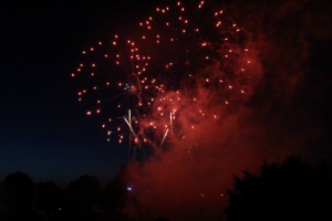
M101 36L131 32L153 11L151 2L1 7L0 180L20 170L37 181L68 183L82 175L111 181L128 161L127 147L108 143L95 118L86 117L71 73L82 49ZM178 137L166 140L172 144L169 151L142 167L129 166L127 178L133 192L139 189L142 207L181 210L196 207L204 196L207 201L199 201L201 207L216 211L226 203L222 196L234 173L292 154L313 162L332 159L331 2L218 3L246 33L227 50L250 50L238 53L232 62L222 60L204 70L211 78L226 75L222 65L234 71L227 82L235 80L234 84L222 90L208 85L210 80L193 90L181 85L183 75L174 77L189 92L183 95L187 101L195 94L195 104L179 105L180 129ZM163 60L165 54L159 55ZM250 63L246 72L239 66L243 61ZM206 72L196 73L197 78L206 80ZM246 88L245 96L232 93L237 86ZM163 96L177 95L169 91Z

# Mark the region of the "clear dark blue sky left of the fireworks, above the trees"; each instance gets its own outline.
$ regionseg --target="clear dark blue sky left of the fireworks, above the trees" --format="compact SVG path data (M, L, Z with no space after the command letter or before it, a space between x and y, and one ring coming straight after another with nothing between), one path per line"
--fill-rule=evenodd
M66 183L86 173L112 180L127 149L107 143L85 116L70 74L85 45L134 25L146 8L142 1L1 6L0 180L17 170L37 181Z

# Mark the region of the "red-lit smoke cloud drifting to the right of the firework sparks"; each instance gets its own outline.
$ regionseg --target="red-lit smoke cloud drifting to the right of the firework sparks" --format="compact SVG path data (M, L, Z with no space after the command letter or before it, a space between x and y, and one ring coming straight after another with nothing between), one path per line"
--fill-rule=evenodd
M169 107L177 109L165 140L170 147L129 166L128 210L135 199L137 211L149 218L217 220L234 175L292 154L313 160L331 156L324 148L331 56L318 50L332 33L323 1L238 0L225 8L243 27L247 38L241 46L248 49L227 65L250 65L243 73L234 72L232 88L207 83L206 73L210 80L225 76L225 62L216 61L196 75L203 81L195 90L184 86L178 94L163 95L181 101Z

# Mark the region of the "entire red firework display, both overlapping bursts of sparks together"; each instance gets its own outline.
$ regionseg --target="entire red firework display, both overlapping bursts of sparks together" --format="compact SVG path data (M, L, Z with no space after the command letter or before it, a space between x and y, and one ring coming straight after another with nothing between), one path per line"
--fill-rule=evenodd
M220 118L211 105L227 108L246 94L253 61L243 30L224 10L174 2L129 32L131 40L115 35L82 51L72 74L85 85L77 95L86 115L101 115L118 143L160 148L173 138L194 140L188 130Z

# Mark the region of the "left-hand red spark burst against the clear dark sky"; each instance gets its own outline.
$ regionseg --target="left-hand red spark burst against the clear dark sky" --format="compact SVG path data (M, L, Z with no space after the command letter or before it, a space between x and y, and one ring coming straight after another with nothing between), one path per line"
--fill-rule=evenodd
M118 35L82 51L82 62L72 73L82 86L77 99L87 106L87 116L100 115L108 140L115 138L122 144L129 139L136 146L141 139L148 141L139 124L155 94L163 90L146 74L149 60L133 40Z

